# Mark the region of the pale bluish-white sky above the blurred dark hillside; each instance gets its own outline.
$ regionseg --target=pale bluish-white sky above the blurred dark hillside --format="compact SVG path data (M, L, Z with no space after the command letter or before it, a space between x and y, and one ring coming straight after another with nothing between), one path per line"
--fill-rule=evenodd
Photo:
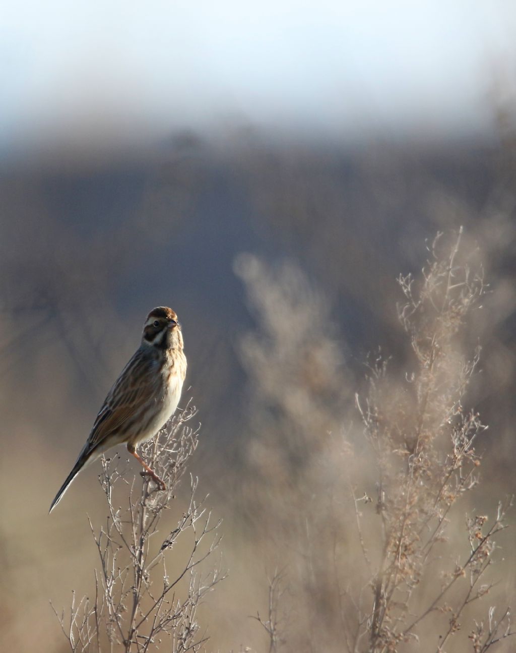
M514 91L516 1L10 0L0 55L4 155L231 120L449 136Z

